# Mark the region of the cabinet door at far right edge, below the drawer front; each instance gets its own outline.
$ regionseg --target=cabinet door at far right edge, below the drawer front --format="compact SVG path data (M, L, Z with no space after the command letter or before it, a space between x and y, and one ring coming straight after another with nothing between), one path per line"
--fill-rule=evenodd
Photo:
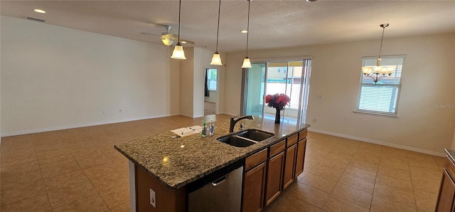
M436 211L454 211L455 184L451 177L444 169L441 179L441 188L439 188L439 197L436 205Z

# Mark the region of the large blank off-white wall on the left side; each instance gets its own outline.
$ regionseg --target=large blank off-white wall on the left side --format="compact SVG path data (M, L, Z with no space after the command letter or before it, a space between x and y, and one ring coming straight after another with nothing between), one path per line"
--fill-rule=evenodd
M4 136L180 114L166 46L1 16L1 62Z

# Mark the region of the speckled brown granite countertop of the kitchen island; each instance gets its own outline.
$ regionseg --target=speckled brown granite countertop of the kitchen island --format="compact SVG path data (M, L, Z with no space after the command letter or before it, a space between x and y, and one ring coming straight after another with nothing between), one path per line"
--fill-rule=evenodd
M168 189L174 190L310 127L309 124L275 124L274 120L257 117L240 122L244 123L245 129L260 129L275 135L250 147L233 147L217 141L218 137L229 134L230 120L220 120L214 122L215 134L212 137L194 134L172 139L175 134L162 132L117 144L114 148ZM235 124L235 132L238 127L240 123Z

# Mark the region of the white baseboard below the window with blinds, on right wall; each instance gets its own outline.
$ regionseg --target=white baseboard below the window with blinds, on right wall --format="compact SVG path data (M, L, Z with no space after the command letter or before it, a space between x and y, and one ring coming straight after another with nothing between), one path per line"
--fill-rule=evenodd
M333 136L336 136L336 137L344 137L344 138L347 138L347 139L354 139L354 140L358 140L358 141L361 141L361 142L379 144L379 145L387 146L387 147L395 147L397 149L405 149L405 150L410 150L412 152L420 152L420 153L424 153L424 154L431 154L431 155L439 156L439 157L445 157L446 156L446 154L444 154L442 152L433 152L433 151L429 151L429 150L425 150L425 149L407 147L407 146L400 145L400 144L392 144L392 143L387 143L387 142L380 142L380 141L377 141L377 140L366 139L366 138L363 138L363 137L355 137L355 136L351 136L351 135L348 135L348 134L341 134L341 133L336 133L336 132L328 132L328 131L321 130L321 129L313 129L311 127L308 128L308 130L310 132L318 132L318 133L322 133L322 134L330 134L330 135L333 135Z

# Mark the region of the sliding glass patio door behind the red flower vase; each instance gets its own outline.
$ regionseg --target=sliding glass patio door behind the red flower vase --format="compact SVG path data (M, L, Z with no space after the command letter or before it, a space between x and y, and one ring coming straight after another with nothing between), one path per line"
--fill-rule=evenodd
M284 93L291 101L282 111L282 122L305 122L310 73L311 59L252 63L243 72L241 113L274 120L275 109L264 105L264 97Z

